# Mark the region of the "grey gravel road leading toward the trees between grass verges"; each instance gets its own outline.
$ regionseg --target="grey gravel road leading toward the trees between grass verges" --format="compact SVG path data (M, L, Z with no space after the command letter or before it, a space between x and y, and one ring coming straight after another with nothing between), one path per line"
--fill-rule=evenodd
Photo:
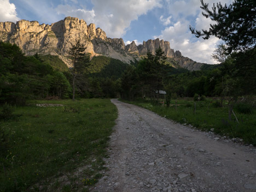
M108 171L92 191L256 191L256 149L112 100Z

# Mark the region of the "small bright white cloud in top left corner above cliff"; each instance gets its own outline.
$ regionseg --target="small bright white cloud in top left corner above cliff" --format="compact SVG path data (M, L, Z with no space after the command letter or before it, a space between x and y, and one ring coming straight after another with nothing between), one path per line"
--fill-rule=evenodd
M15 4L10 3L9 0L0 0L0 21L18 21Z

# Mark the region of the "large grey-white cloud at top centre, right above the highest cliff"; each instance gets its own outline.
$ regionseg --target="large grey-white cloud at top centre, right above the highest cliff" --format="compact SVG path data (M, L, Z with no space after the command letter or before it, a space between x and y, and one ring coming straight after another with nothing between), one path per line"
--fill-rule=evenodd
M93 22L107 33L108 37L121 37L129 29L131 21L140 15L147 14L155 7L161 7L161 0L92 0L91 10L78 10L68 4L59 5L57 13L65 16L76 16L86 22ZM94 13L94 15L92 15Z

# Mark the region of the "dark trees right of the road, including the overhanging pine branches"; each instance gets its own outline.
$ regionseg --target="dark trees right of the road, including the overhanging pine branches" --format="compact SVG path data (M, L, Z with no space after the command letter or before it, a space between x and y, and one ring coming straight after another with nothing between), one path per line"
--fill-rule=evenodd
M162 51L158 50L156 55L148 53L136 68L129 67L125 72L121 80L122 96L157 99L159 94L156 92L165 90L167 100L171 95L220 96L222 101L228 97L231 112L239 96L256 94L255 6L255 1L240 0L229 5L213 4L210 8L201 0L202 15L216 21L216 24L208 30L189 28L197 38L215 36L223 40L224 44L218 45L212 54L213 59L222 65L216 69L205 65L202 69L210 70L170 75L164 70L166 65Z

